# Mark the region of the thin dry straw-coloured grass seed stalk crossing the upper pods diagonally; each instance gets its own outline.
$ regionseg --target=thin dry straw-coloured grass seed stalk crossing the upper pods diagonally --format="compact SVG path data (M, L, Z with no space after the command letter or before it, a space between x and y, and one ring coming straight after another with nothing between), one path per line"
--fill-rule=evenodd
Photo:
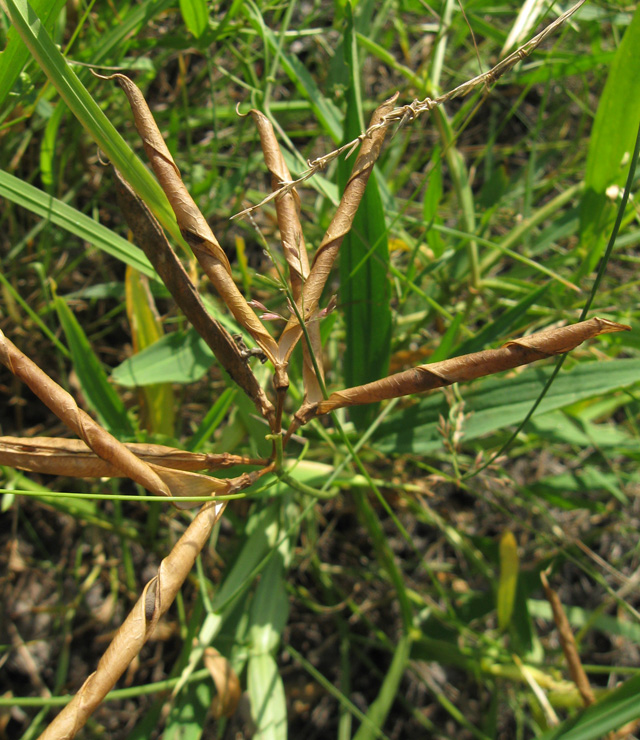
M266 198L261 200L260 203L256 203L255 205L249 206L249 208L245 208L243 211L236 213L234 216L232 216L232 218L240 218L241 216L246 216L252 211L261 208L266 203L269 203L276 198L280 198L284 193L290 192L298 185L301 185L303 182L313 177L316 173L324 170L330 162L332 162L334 159L337 159L343 152L350 153L356 146L358 146L361 141L364 141L366 138L370 137L374 130L379 128L387 128L396 123L402 126L405 123L415 121L423 113L428 113L434 108L437 108L439 105L442 105L449 100L453 100L453 98L468 95L470 92L475 90L477 87L480 87L481 85L488 87L489 85L495 83L500 77L502 77L502 75L513 69L513 67L515 67L518 62L530 56L530 54L532 54L533 51L535 51L535 49L537 49L537 47L540 46L540 44L548 36L554 33L566 20L568 20L580 7L582 7L585 2L586 0L579 0L579 2L569 8L569 10L558 16L555 21L546 26L546 28L544 28L537 36L534 36L532 39L527 41L526 44L523 44L519 49L516 49L512 54L509 54L509 56L502 59L500 62L498 62L498 64L495 65L495 67L490 69L488 72L483 72L473 79L463 82L461 85L458 85L458 87L455 87L453 90L449 90L449 92L445 93L444 95L440 95L437 98L414 100L407 105L402 105L398 108L394 108L384 117L382 121L379 121L376 124L371 124L366 131L363 131L357 138L353 139L353 141L349 141L346 144L343 144L338 149L329 152L329 154L325 154L322 157L318 157L307 162L308 169L305 170L299 178L297 178L296 180L283 180L278 190L270 193Z

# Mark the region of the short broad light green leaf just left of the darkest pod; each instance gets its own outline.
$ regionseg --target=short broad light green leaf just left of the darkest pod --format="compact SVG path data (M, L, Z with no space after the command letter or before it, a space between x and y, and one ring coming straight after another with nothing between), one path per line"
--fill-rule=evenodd
M125 360L111 379L127 388L154 383L194 383L215 362L213 353L195 329L175 331Z

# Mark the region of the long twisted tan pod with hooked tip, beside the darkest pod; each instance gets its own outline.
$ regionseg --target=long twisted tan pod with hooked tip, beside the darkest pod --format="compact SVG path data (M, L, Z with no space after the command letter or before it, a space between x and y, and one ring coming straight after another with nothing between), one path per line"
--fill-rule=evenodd
M144 96L125 75L99 76L106 80L116 80L124 90L145 151L176 215L182 236L188 242L198 262L231 313L275 364L276 341L262 325L234 283L229 260L182 182L180 170L173 161Z

